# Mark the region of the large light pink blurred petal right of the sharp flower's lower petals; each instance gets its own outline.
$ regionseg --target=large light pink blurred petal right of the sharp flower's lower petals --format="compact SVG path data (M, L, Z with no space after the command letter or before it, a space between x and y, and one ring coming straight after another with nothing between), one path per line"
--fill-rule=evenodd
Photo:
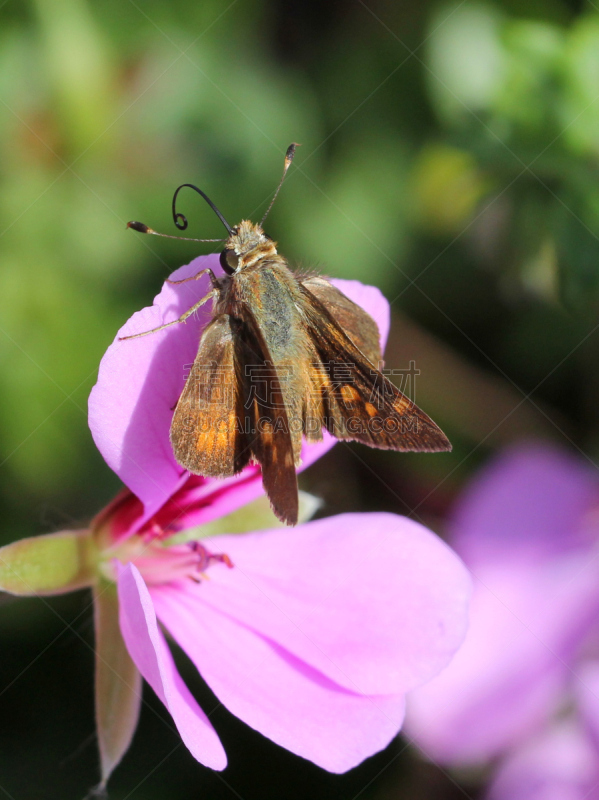
M590 551L536 568L498 560L474 577L463 646L408 698L408 733L445 764L487 761L546 724L599 613L599 563Z

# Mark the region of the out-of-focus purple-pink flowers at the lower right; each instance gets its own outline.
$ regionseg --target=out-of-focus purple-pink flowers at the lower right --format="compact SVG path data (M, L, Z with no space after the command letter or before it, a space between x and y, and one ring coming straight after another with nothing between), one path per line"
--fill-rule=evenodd
M406 731L448 766L498 764L492 800L599 798L599 479L521 446L462 495L450 542L474 579L451 664L410 694Z

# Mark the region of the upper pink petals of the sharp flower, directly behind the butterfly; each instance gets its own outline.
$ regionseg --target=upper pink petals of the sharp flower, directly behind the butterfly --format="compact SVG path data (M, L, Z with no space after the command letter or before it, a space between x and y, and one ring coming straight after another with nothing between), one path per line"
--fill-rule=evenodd
M174 272L171 278L187 278L206 267L219 273L218 256L200 256ZM357 281L334 283L374 316L384 344L389 329L389 304L379 290ZM177 319L209 288L207 276L180 286L165 283L154 305L134 314L120 329L102 359L98 382L90 395L89 425L94 441L108 465L143 502L144 519L152 516L187 477L174 460L169 429L186 368L195 359L201 331L210 319L210 302L184 324L140 339L120 341L119 337ZM327 437L322 444L305 446L304 465L326 452L334 442ZM313 450L312 456L308 456L308 449ZM243 486L239 500L235 496L238 484ZM221 481L207 479L206 486L207 495L218 494L219 499L214 504L206 502L213 515L200 521L232 511L263 491L259 473L253 468L230 479L226 496L222 494Z

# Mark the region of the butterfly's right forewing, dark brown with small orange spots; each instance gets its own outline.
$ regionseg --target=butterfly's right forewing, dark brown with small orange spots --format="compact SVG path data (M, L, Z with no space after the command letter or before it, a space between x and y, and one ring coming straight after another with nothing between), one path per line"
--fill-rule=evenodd
M339 319L344 320L348 335L333 316L334 306L329 311L311 288L309 282L301 286L302 312L317 356L311 365L311 391L316 388L319 392L319 404L312 400L306 406L312 410L318 407L323 427L338 439L352 439L371 447L420 452L451 450L441 429L357 346L360 342L371 355L377 354L372 341L374 323L366 323L365 312L360 309L359 313L352 313L351 306L344 304ZM330 292L321 291L323 299L327 294L332 297ZM376 363L379 361L377 358ZM304 427L309 431L314 428L314 421L306 418ZM310 438L309 432L307 436Z

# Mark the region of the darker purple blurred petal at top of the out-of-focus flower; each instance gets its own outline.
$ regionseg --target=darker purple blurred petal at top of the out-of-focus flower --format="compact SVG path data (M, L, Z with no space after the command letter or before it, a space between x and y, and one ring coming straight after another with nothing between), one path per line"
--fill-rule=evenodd
M599 497L597 473L545 444L520 445L482 470L463 492L452 544L469 566L537 562L595 538L582 524Z

